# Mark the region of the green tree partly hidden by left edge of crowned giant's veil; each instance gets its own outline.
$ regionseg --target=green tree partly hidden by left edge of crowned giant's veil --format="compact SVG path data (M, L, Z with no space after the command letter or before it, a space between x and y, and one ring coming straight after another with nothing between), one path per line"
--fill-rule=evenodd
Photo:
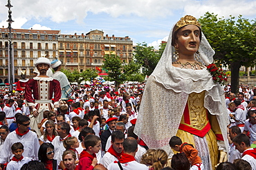
M148 47L145 42L137 44L134 54L135 62L145 68L143 72L145 75L152 74L159 59L161 59L165 45L165 43L161 44L159 51L156 52L154 47Z

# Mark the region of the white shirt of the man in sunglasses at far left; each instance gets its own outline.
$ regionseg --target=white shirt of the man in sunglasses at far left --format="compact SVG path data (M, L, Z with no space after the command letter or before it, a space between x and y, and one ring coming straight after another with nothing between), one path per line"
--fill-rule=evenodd
M30 160L38 160L37 154L39 141L37 134L33 131L28 131L24 136L19 136L16 134L16 131L12 131L8 134L3 144L0 154L0 164L6 163L6 160L10 160L10 158L12 158L12 151L10 148L16 142L21 142L22 145L24 145L24 153L22 153L24 157L28 157Z

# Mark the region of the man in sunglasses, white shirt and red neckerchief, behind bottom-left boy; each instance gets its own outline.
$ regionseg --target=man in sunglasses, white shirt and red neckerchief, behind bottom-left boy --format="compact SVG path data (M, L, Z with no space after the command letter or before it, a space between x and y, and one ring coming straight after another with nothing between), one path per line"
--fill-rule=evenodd
M30 118L28 116L19 116L16 120L17 129L12 131L6 137L3 148L0 154L0 164L6 163L12 157L11 147L16 142L21 142L24 145L24 157L30 160L38 160L39 141L37 134L29 130Z

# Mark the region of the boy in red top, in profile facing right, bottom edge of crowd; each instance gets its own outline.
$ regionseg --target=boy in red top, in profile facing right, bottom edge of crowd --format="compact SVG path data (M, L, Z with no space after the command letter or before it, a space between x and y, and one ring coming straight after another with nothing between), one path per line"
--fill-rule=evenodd
M84 138L84 146L86 149L80 154L78 169L92 170L98 162L95 153L100 151L101 140L98 136L88 135Z

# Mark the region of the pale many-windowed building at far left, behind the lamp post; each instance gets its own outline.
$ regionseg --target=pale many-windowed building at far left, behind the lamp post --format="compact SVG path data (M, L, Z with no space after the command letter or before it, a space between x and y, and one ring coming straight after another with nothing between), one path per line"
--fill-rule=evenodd
M46 55L54 59L58 52L58 30L12 29L12 48L15 67L15 82L21 70L26 70L26 78L32 78L34 63L38 57ZM0 28L0 83L8 83L8 29Z

